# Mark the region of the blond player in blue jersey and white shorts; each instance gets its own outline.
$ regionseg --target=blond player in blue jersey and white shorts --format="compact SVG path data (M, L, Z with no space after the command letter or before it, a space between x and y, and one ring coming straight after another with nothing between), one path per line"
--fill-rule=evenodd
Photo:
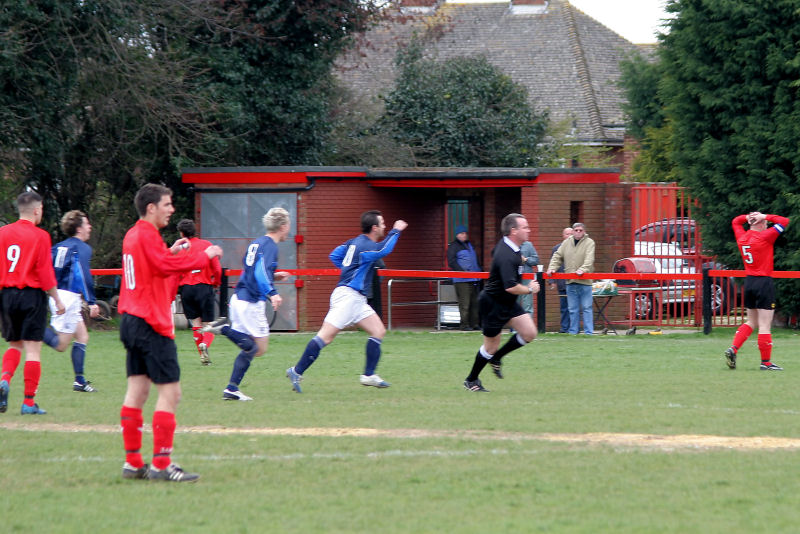
M203 327L203 332L222 334L241 349L233 362L233 371L228 387L222 392L224 400L250 401L239 390L253 358L267 352L269 344L269 321L266 301L277 310L283 299L275 289L275 281L289 277L286 271L277 271L278 243L289 235L289 212L283 208L272 208L262 218L266 235L250 243L242 259L244 269L231 296L228 310L230 326L221 319Z

